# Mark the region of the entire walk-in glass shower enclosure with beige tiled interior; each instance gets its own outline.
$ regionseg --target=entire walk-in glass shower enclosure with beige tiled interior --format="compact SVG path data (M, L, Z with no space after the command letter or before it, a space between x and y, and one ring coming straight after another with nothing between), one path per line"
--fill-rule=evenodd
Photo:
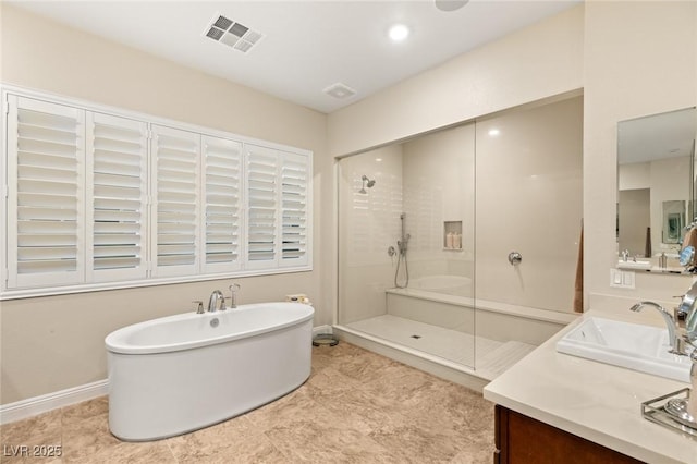
M489 379L563 327L582 141L575 96L340 159L339 326Z

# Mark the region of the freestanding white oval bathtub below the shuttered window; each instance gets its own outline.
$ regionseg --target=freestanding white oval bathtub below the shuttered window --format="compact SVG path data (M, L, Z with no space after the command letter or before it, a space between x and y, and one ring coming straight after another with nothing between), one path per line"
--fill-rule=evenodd
M310 374L314 313L299 303L249 304L110 333L111 432L127 441L172 437L293 391Z

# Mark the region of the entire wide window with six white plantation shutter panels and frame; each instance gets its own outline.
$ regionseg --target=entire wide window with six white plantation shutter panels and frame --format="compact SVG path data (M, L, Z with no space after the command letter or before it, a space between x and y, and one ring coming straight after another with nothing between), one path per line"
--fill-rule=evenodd
M310 151L0 90L0 301L311 270Z

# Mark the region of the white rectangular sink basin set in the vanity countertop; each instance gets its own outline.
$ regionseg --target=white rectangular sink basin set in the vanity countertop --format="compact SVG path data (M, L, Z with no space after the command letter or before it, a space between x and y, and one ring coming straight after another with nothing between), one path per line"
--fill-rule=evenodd
M590 317L557 342L557 351L689 382L689 356L669 353L668 329Z

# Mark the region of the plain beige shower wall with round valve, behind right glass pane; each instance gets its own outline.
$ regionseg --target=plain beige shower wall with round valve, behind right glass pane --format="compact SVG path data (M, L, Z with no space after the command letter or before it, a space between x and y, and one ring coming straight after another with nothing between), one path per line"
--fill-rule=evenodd
M573 312L583 105L575 97L477 120L477 298Z

